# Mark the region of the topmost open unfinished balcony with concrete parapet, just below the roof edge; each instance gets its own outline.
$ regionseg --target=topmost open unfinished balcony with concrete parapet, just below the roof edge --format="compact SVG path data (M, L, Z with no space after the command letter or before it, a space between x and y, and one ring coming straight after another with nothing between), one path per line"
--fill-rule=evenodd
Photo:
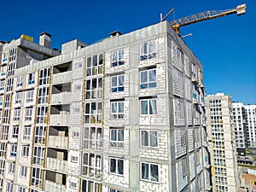
M52 84L64 84L72 80L72 62L63 63L53 67Z

